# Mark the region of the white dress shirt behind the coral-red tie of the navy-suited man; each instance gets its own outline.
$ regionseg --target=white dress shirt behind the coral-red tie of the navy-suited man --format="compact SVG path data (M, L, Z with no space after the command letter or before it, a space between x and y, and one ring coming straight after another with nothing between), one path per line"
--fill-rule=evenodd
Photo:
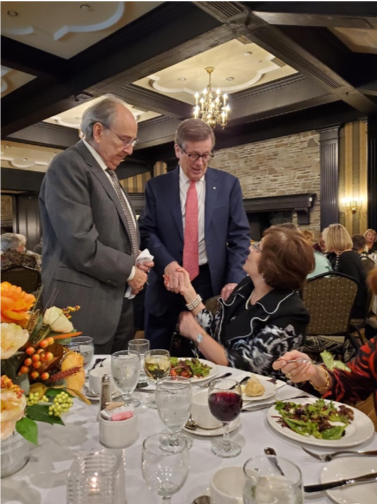
M181 200L183 236L185 234L186 221L186 199L190 187L191 180L185 175L181 167L179 167L179 196ZM206 200L206 182L205 175L195 182L196 193L198 195L198 240L199 240L199 265L208 262L206 242L204 236L204 215L205 215L205 200Z

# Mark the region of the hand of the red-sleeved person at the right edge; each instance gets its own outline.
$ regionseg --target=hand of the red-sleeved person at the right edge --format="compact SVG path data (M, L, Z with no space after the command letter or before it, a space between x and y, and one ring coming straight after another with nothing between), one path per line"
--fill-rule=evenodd
M307 360L307 362L302 362L302 359ZM286 362L289 360L297 362ZM293 383L308 380L316 383L322 377L321 371L318 369L318 366L312 364L310 357L297 350L284 354L272 364L272 367L274 369L281 369L285 376Z

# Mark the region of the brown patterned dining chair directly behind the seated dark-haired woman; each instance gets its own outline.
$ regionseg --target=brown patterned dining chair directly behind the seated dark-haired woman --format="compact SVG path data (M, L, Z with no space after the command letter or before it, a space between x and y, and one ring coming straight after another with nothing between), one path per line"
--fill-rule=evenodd
M339 355L345 362L357 352L361 336L351 325L351 312L358 291L353 278L326 272L309 279L302 291L310 323L303 350L315 357L323 350ZM357 332L356 338L352 333Z

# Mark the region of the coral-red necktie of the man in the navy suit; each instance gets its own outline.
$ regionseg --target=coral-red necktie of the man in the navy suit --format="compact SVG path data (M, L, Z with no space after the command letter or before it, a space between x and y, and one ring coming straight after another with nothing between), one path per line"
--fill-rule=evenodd
M198 195L194 180L190 182L186 198L183 267L190 274L191 281L199 275Z

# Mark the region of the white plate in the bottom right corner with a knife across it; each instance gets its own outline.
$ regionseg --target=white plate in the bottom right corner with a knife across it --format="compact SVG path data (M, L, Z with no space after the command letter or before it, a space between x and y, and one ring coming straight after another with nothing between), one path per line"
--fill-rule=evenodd
M376 457L343 457L329 462L321 472L321 483L362 476L368 473L377 474ZM327 495L339 504L376 504L377 482L360 485L346 485L327 490Z

